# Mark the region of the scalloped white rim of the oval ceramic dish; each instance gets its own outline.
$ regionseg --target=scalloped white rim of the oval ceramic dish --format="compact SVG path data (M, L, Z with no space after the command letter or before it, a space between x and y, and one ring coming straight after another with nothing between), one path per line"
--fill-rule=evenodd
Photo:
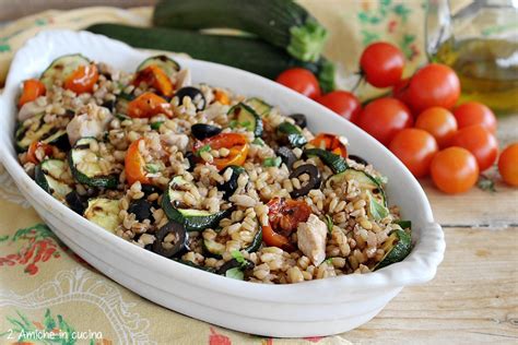
M48 43L49 40L52 41L52 39L60 37L62 38L63 36L66 38L95 41L99 45L110 45L114 46L114 48L120 49L122 52L123 50L134 50L142 52L127 46L123 43L87 32L72 32L61 29L40 32L35 37L27 40L14 56L10 72L8 74L4 92L0 96L0 103L2 105L1 109L3 109L2 112L7 112L2 115L4 124L7 124L9 121L14 121L16 116L15 111L14 114L9 114L9 111L5 110L10 109L10 107L12 108L12 105L9 103L14 100L16 91L19 88L19 84L14 83L15 76L13 75L12 71L26 69L27 67L23 67L22 64L31 62L31 59L27 57L28 52L33 51L37 47L40 47L42 45L45 45L45 43ZM80 52L85 53L84 51ZM87 53L85 55L87 56ZM247 82L257 84L257 87L264 85L272 88L275 93L289 93L290 98L293 98L297 103L310 102L314 104L313 106L317 105L315 102L297 94L292 90L287 90L286 87L274 83L273 81L267 80L247 71L208 61L177 57L175 57L175 59L177 59L180 64L189 66L189 68L192 69L196 68L196 66L207 66L216 70L223 69L232 73L240 73L243 74L243 78L247 80ZM319 107L319 112L325 114L326 117L339 117L323 106L317 106ZM14 110L16 108L14 107ZM340 120L348 131L361 131L345 119L340 118ZM358 135L367 142L375 141L365 132L362 132ZM23 170L22 166L17 162L15 153L14 156L12 155L12 152L14 151L9 150L8 146L12 146L12 138L7 134L7 131L2 131L0 136L0 152L2 153L1 162L3 163L4 167L8 169L21 189L25 189L26 192L33 193L36 200L42 200L42 203L46 204L47 211L61 214L63 217L70 219L71 224L79 226L79 231L82 231L84 236L87 236L99 245L114 245L114 248L118 250L120 254L125 255L125 259L129 260L130 262L134 262L138 265L145 265L149 270L153 270L157 274L179 278L189 284L217 292L220 294L234 297L244 297L246 299L256 299L259 301L284 300L296 304L328 304L329 298L318 298L320 294L315 295L316 289L331 288L332 290L341 292L350 289L365 290L379 287L396 287L420 284L427 282L435 276L437 266L443 260L445 249L444 234L440 226L434 222L432 209L424 191L422 190L421 186L419 186L419 182L415 180L415 178L402 165L402 163L399 162L396 156L393 156L378 142L375 143L378 146L377 150L380 150L380 153L388 155L389 157L387 159L397 159L395 164L399 166L399 170L401 174L403 174L404 178L411 181L411 183L417 183L419 186L416 189L419 191L419 200L415 202L419 203L424 210L425 225L420 230L420 238L414 243L412 252L409 254L409 257L407 257L402 262L391 264L379 271L367 274L340 275L337 277L314 279L299 284L259 284L231 279L213 273L197 270L178 262L174 262L148 250L142 250L142 248L126 241L115 234L106 231L94 223L78 215L72 210L40 189L36 182L31 179L31 177ZM413 187L415 188L415 186ZM89 250L89 252L91 252L91 250Z

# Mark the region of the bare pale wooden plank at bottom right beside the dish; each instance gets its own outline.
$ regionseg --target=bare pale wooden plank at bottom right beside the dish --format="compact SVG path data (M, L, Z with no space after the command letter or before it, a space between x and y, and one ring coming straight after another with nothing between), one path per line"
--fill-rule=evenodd
M445 261L424 286L407 287L355 344L517 344L518 228L446 229Z

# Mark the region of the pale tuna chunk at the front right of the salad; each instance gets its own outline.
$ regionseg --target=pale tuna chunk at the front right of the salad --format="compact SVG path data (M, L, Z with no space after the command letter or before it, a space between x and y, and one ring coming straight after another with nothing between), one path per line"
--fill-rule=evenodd
M328 228L326 223L311 214L306 223L297 227L298 249L318 266L326 259L326 237Z

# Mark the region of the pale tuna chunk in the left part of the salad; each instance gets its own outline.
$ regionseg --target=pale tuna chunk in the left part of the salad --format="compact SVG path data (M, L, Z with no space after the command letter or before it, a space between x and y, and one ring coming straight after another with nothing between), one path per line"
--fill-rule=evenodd
M99 136L111 121L111 114L107 108L93 104L86 105L67 126L70 144L85 136Z

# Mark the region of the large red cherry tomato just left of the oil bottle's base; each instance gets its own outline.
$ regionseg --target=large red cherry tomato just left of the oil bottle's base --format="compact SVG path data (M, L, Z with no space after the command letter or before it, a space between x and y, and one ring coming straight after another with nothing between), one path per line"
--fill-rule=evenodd
M409 100L417 114L432 107L450 109L459 96L459 78L445 64L431 63L415 72L410 80Z

